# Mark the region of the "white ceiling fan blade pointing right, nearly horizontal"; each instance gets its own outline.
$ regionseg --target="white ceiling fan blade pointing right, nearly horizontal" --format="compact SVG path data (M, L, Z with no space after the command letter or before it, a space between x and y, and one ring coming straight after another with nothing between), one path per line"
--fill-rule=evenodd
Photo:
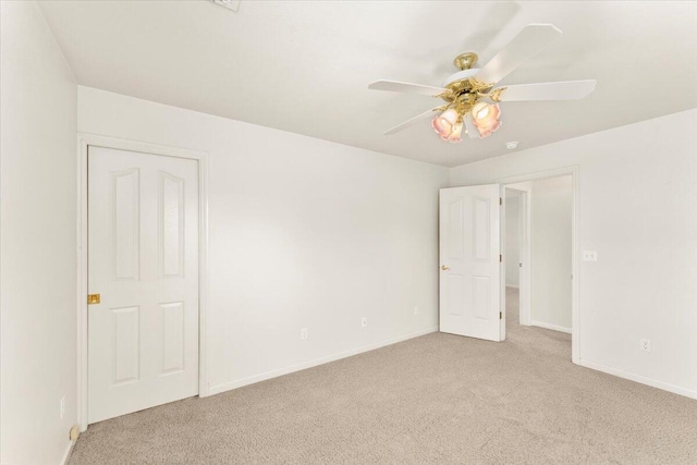
M497 101L528 100L578 100L596 88L596 81L566 81L561 83L517 84L497 87L491 94L500 91Z

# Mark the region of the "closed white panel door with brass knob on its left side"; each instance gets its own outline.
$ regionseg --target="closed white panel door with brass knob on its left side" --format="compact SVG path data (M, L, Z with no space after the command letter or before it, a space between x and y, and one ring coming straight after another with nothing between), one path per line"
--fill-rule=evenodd
M89 147L88 423L198 393L198 164Z

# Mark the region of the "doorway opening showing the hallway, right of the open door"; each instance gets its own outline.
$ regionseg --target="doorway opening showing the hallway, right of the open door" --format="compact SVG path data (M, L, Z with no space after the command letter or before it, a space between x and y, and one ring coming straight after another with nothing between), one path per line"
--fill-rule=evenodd
M571 175L504 186L505 309L516 325L572 332L574 191Z

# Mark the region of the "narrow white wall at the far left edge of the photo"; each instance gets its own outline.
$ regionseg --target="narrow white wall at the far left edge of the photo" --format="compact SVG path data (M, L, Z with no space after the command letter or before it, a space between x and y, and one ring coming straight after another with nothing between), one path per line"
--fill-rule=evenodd
M58 464L76 420L76 85L37 4L0 9L0 463Z

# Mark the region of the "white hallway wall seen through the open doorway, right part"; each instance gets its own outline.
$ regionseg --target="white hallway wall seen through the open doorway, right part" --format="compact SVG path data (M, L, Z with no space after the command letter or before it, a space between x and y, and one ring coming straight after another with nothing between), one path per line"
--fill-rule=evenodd
M573 180L530 183L530 319L571 332Z

